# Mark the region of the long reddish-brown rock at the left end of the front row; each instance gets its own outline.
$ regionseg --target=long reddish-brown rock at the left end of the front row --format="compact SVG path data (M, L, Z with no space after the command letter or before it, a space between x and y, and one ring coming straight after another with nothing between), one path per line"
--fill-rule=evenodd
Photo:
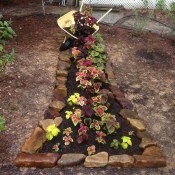
M18 167L52 168L59 158L58 153L20 153L13 163Z

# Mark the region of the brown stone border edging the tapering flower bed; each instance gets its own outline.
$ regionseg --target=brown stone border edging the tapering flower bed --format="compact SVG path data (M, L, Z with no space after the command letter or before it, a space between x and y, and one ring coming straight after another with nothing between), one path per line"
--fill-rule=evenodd
M120 168L156 168L166 166L165 156L162 155L160 148L147 132L138 114L133 111L132 103L125 98L124 93L117 87L110 60L108 60L105 69L110 84L110 90L115 99L122 106L122 110L119 114L136 129L136 136L141 139L139 147L143 149L142 155L130 156L123 154L109 156L107 152L99 152L91 156L78 153L63 155L59 153L37 153L46 141L45 130L47 126L55 124L58 127L62 123L63 119L59 112L66 106L66 81L68 69L71 64L70 56L71 54L69 51L59 53L53 101L46 110L46 112L54 116L55 119L45 119L39 122L31 136L22 146L21 153L17 155L13 162L14 165L18 167L38 168L74 166L82 163L85 167L91 168L105 166Z

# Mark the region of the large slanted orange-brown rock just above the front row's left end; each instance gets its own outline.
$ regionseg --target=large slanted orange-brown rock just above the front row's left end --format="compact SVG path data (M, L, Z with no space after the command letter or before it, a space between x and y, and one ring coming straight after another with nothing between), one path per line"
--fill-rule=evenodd
M22 147L22 152L35 153L46 141L46 133L40 127L36 127Z

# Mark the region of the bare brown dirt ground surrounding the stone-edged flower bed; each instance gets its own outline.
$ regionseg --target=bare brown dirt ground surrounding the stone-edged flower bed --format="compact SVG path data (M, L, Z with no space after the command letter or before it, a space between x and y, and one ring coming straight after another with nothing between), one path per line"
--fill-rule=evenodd
M151 135L167 156L159 169L16 168L12 160L20 151L52 99L58 47L63 33L52 15L12 17L17 36L9 43L16 60L0 79L0 114L6 131L0 133L0 175L172 175L175 171L175 43L147 33L101 26L116 82L126 93Z

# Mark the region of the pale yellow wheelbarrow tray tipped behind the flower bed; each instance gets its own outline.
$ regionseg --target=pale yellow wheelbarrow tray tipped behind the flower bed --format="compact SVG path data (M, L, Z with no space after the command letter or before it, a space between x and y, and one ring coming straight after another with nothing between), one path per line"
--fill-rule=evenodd
M74 17L73 17L73 14L75 12L77 12L77 11L76 10L71 10L70 12L68 12L65 15L61 16L60 18L58 18L57 24L68 35L70 35L71 37L73 37L75 39L78 39L76 36L74 36L72 33L70 33L69 31L67 31L65 29L66 27L68 27L67 26L68 25L68 21L70 21L71 24L75 24ZM99 30L99 26L95 24L93 26L93 28L95 29L95 32L93 34L95 34Z

